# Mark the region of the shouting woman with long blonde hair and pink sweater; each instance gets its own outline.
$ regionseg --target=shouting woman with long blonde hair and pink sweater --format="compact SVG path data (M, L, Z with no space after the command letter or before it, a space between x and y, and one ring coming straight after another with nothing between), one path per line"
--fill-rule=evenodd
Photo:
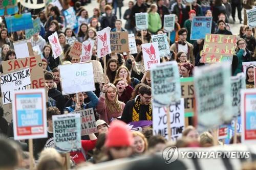
M96 107L97 113L100 114L100 119L103 119L107 124L122 115L125 104L118 101L117 88L114 84L103 85L102 93L99 97L99 103Z

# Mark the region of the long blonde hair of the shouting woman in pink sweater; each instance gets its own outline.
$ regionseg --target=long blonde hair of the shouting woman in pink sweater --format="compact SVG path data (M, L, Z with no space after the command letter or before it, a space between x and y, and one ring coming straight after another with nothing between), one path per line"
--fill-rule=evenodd
M114 84L108 84L107 87L112 87L116 91L116 97L114 102L111 102L107 96L107 93L105 93L105 103L106 103L106 109L109 111L110 114L118 111L121 112L122 109L122 102L118 101L118 94L117 94L117 88Z

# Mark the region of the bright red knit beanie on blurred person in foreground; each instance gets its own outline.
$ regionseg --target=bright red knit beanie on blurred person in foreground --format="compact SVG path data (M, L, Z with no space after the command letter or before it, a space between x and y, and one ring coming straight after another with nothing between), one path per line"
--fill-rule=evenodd
M106 135L105 146L110 147L130 147L133 144L132 132L121 120L115 120L110 124L109 132Z

